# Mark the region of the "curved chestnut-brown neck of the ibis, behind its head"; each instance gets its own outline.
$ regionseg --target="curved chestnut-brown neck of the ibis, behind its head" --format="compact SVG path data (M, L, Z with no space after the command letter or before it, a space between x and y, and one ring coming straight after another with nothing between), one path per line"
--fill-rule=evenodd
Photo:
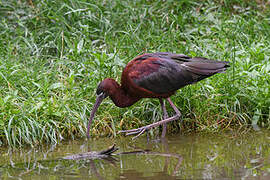
M116 106L121 108L129 107L141 99L130 96L116 81L110 89L109 97Z

